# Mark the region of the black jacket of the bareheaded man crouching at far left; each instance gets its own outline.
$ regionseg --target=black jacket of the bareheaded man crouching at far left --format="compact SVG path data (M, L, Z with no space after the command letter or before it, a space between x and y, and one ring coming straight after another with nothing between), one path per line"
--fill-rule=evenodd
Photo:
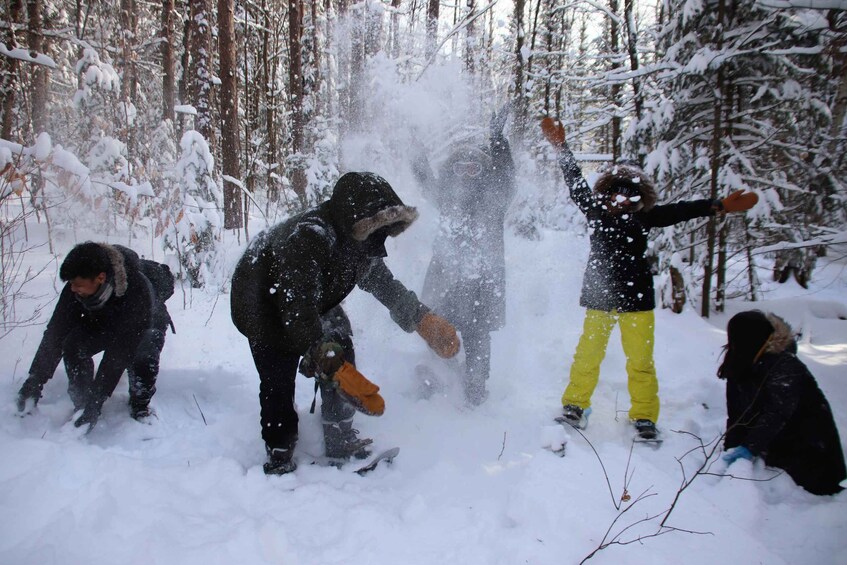
M132 361L144 330L152 325L152 288L139 269L138 255L121 245L101 246L109 254L111 272L107 276L114 284L114 293L102 308L88 310L71 292L71 283L65 284L29 369L29 378L39 390L62 360L65 337L82 330L91 335L104 334L108 339L93 395L94 401L104 401Z

